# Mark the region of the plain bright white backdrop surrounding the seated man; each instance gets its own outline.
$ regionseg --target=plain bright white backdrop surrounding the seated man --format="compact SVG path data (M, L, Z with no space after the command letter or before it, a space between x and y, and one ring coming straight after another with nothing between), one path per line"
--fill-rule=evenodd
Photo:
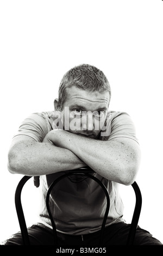
M3 0L0 25L0 240L19 230L14 194L22 175L7 170L11 138L28 114L53 109L68 69L88 63L108 77L110 110L128 112L135 123L142 151L139 225L163 242L163 1ZM27 225L37 220L38 192L32 180L24 188ZM131 186L122 188L122 197L130 222Z

